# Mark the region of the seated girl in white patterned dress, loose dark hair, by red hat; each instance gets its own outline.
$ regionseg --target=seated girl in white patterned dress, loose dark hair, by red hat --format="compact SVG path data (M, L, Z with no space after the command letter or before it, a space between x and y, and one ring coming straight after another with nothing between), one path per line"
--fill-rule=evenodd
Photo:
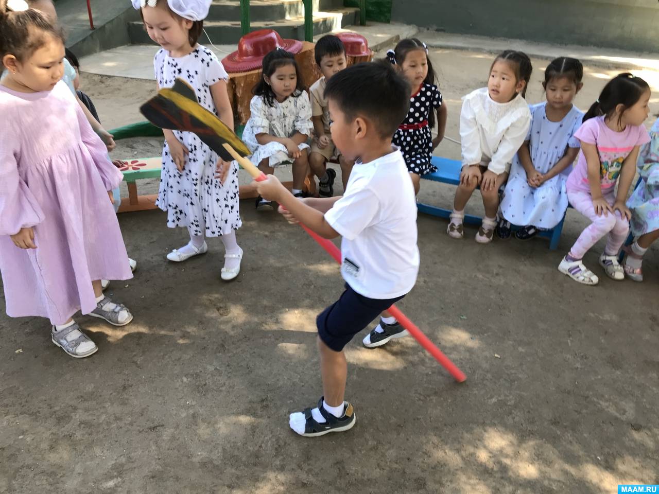
M311 103L295 57L277 48L263 59L263 75L254 86L251 116L243 140L252 151L250 159L266 175L274 167L293 163L293 195L302 197L309 169L307 141L314 128ZM256 209L274 209L272 202L257 198Z

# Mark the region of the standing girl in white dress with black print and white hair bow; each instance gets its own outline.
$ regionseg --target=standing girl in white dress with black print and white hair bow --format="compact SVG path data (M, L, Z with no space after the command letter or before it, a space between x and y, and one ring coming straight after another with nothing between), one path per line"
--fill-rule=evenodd
M227 72L215 54L199 45L203 19L211 0L132 0L150 38L162 49L154 68L158 88L170 88L177 78L193 89L199 104L233 129L233 112L227 94ZM155 5L154 5L155 4ZM237 163L223 163L196 134L165 130L163 167L156 204L167 211L167 226L186 227L190 242L167 254L181 262L204 254L204 236L219 236L225 247L221 278L238 276L243 250L235 231L241 227ZM217 177L216 169L221 171Z

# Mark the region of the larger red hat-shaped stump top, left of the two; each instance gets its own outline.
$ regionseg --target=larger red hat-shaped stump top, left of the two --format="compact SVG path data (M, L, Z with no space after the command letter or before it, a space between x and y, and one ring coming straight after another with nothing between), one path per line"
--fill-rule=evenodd
M262 29L245 34L238 41L238 49L222 59L227 72L247 72L260 69L263 57L275 48L283 48L293 54L302 51L302 41L282 40L272 29Z

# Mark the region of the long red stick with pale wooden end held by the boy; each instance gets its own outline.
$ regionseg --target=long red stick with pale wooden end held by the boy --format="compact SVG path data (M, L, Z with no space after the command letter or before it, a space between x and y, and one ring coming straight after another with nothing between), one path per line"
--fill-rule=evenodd
M250 175L252 175L252 177L254 177L256 182L262 182L263 180L266 180L266 175L258 168L256 168L251 161L239 156L238 153L236 153L236 151L233 150L233 148L231 148L231 146L228 144L224 144L224 147L227 148L233 157L241 164L243 169L245 169ZM339 248L335 246L333 242L327 238L322 238L322 236L310 230L308 227L306 227L306 225L303 225L302 223L300 223L300 226L306 231L306 233L311 236L311 238L316 240L316 242L318 242L318 244L320 244L320 246L324 248L326 252L334 258L335 261L337 261L337 263L341 264L341 250L339 250ZM459 368L457 368L457 366L455 366L455 364L453 364L453 362L451 362L451 360L444 355L444 352L442 352L442 350L440 350L436 344L432 343L432 341L430 341L430 339L424 335L420 329L418 329L415 323L410 321L399 308L393 305L387 309L387 312L389 312L391 316L395 317L396 320L401 323L401 326L409 331L414 339L418 341L418 343L423 346L423 348L425 348L426 351L430 353L430 355L432 355L435 360L437 360L437 362L439 362L440 365L449 372L449 374L453 376L453 379L459 383L463 383L467 380L465 373L459 370Z

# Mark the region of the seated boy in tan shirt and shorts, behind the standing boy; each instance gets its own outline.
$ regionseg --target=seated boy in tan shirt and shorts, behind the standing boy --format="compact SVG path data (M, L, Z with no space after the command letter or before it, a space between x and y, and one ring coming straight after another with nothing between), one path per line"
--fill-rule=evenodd
M311 120L314 123L314 141L311 145L309 165L311 171L318 177L320 197L331 197L334 194L334 179L336 172L328 168L328 161L335 155L339 157L341 165L341 180L343 190L348 183L350 171L353 169L354 161L345 159L340 151L336 149L329 134L329 109L325 98L325 86L328 80L345 69L347 65L345 47L343 41L336 36L328 34L316 43L316 65L323 76L310 88L311 92Z

